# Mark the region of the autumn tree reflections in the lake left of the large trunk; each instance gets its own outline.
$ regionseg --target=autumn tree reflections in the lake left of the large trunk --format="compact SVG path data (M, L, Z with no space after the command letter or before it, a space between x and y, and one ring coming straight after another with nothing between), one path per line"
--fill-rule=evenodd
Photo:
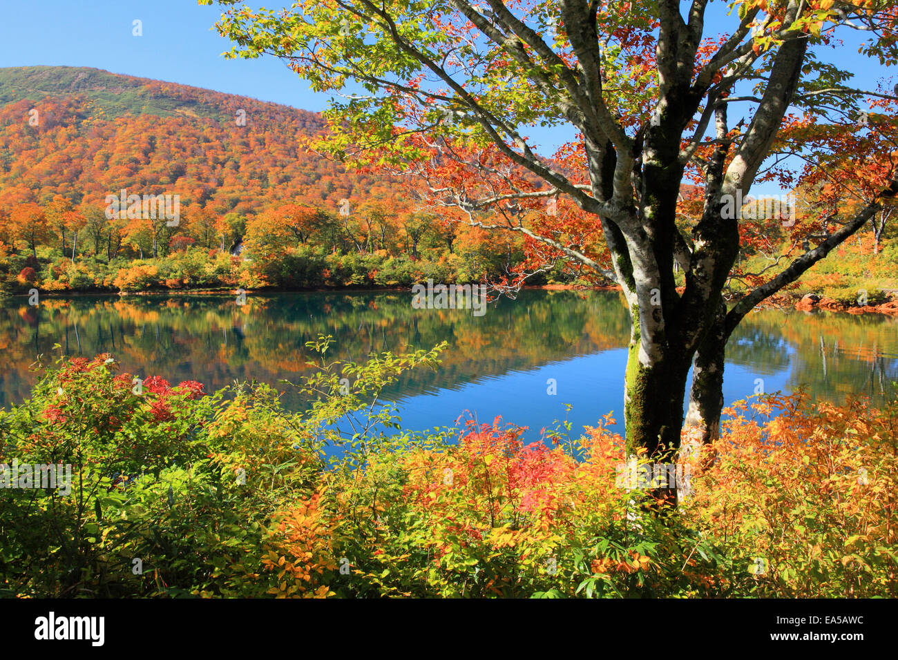
M44 300L37 310L7 301L0 306L0 343L10 347L9 370L0 403L26 396L35 379L28 365L55 343L67 355L110 352L123 370L192 378L215 389L234 379L295 378L309 369L305 342L321 334L334 336L336 356L354 360L447 341L442 368L410 374L388 392L395 395L618 348L629 337L616 295L526 291L491 304L482 317L415 310L410 301L410 294L397 293L254 295L245 305L221 296L80 297Z

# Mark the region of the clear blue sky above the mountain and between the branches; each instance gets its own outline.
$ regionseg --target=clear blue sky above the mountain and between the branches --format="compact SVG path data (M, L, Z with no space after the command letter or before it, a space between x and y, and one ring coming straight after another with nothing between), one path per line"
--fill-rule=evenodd
M251 4L283 6L264 0ZM220 7L200 6L196 0L2 0L0 66L93 66L304 110L327 106L326 96L309 90L275 58L222 57L230 43L212 29L219 14ZM709 24L725 15L725 4L712 4ZM142 37L132 35L135 19L143 22ZM732 17L726 25L732 25ZM858 56L857 43L855 37L825 58L858 70L858 87L875 88L877 80L893 72ZM533 129L530 135L537 146L554 147L572 134Z

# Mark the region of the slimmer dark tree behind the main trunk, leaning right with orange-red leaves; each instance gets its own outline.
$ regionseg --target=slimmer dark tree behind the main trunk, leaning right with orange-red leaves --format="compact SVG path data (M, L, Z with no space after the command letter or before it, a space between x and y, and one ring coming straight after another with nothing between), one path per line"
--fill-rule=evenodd
M894 63L888 53L883 57ZM836 96L828 101L831 106L824 103L809 108L809 112L829 112L833 116L829 121L822 123L807 115L789 117L779 130L771 154L778 158L800 154L805 164L797 174L787 217L763 217L765 214L757 207L751 217L740 215L741 248L768 250L769 264L756 273L746 273L737 266L731 268L722 292L729 305L718 307L715 321L693 361L685 421L699 427L703 441L718 437L726 341L744 316L796 282L866 224L876 223L875 232L877 227L880 233L883 231L898 193L895 101L886 94L875 93L869 101L870 111L846 112L846 101ZM795 180L792 172L778 165L771 167L766 177L779 180L783 186ZM781 244L776 244L776 238L770 241L770 233L763 231L765 224L775 228L775 235L783 233ZM728 286L733 278L744 285L735 295Z

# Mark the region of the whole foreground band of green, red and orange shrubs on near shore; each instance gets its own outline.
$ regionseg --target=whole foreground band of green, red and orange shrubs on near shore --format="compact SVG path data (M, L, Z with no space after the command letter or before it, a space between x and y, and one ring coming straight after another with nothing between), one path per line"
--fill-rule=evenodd
M621 486L611 418L524 444L501 419L413 432L380 402L442 347L205 392L62 359L0 411L0 462L72 465L0 488L0 593L42 597L896 595L898 405L735 404L659 510ZM684 446L689 446L684 437ZM640 460L646 460L645 457Z

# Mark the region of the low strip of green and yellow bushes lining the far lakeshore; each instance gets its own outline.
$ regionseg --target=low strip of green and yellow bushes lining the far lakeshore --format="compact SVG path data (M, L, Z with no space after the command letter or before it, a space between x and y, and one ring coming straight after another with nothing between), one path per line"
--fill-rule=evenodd
M409 287L427 281L445 284L498 281L510 277L524 260L515 241L445 244L426 235L413 255L401 246L356 251L325 244L265 246L250 243L249 254L231 254L196 246L152 258L119 253L60 257L56 248L39 246L34 254L13 251L0 242L0 294L66 294L231 289L242 286L286 290ZM254 248L254 249L253 249ZM587 284L559 263L531 277L530 284Z

